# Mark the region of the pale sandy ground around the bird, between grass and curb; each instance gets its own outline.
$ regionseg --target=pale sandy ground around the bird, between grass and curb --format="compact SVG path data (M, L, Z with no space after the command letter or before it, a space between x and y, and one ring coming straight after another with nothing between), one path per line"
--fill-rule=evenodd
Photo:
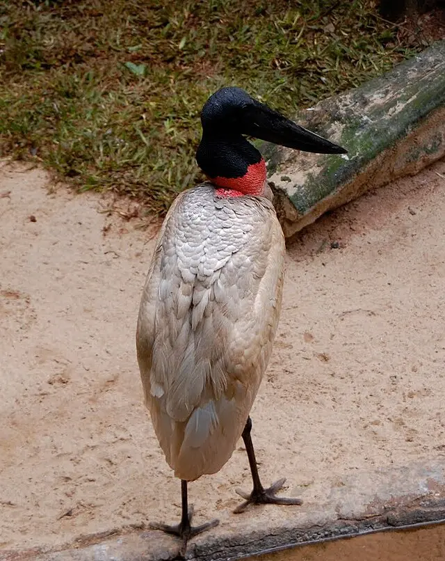
M286 493L305 505L232 514L234 488L250 489L240 445L220 473L191 484L197 523L298 523L351 473L444 457L445 179L435 172L445 175L444 161L289 242L253 438L264 483L286 475ZM99 212L99 196L50 188L38 169L0 170L6 549L179 516L134 347L152 229Z

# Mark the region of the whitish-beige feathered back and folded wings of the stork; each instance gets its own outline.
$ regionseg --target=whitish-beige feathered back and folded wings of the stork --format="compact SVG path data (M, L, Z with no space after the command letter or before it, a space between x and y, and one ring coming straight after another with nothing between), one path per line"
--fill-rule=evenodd
M241 436L280 315L284 237L265 197L184 191L161 229L140 303L138 363L175 475L216 473Z

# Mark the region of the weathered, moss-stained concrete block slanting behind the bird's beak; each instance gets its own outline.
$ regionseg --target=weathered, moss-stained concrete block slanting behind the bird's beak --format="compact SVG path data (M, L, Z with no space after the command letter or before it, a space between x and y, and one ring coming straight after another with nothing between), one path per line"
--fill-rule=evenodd
M301 111L296 120L348 155L260 146L286 237L445 155L445 40L383 77Z

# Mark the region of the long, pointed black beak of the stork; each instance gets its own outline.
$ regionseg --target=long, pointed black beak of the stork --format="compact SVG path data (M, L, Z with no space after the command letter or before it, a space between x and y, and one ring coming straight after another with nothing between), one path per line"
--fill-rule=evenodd
M316 154L346 154L348 150L286 119L267 105L254 101L243 107L241 133L274 144Z

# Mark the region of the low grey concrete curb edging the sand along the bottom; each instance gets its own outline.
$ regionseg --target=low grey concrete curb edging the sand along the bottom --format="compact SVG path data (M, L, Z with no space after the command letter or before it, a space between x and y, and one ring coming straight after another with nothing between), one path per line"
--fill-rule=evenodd
M350 477L344 485L331 490L326 504L308 504L296 516L286 514L279 528L256 528L246 513L236 533L220 526L215 532L193 539L186 558L229 561L309 542L405 529L444 519L443 461L428 466L416 462ZM162 532L133 531L102 540L84 538L61 551L3 551L0 561L173 560L180 546L179 540Z

